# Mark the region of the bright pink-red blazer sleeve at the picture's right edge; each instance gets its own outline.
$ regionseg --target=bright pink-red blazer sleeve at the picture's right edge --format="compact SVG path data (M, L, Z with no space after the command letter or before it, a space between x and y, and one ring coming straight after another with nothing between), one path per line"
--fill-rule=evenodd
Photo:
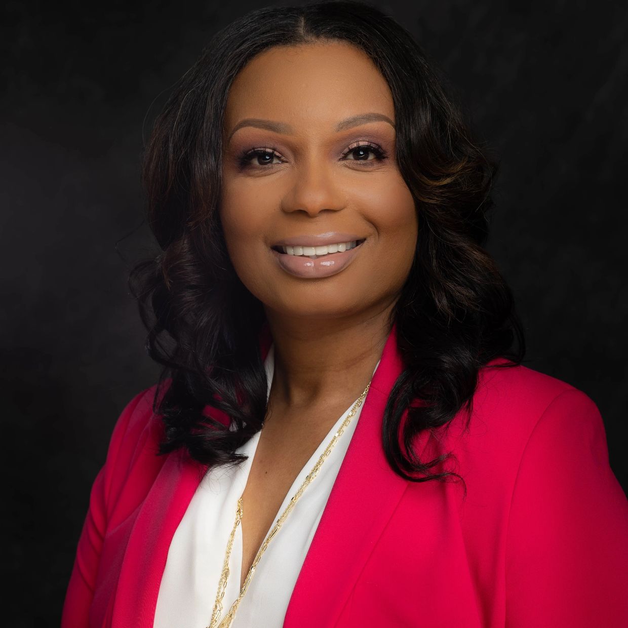
M602 417L559 394L521 458L506 540L506 628L628 626L628 501Z

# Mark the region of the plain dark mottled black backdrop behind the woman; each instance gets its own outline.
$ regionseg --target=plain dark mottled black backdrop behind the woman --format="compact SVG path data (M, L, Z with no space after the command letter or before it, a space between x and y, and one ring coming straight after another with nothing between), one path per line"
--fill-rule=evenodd
M489 250L528 331L526 364L597 403L626 490L622 4L376 6L445 70L501 157ZM4 4L3 565L15 589L3 617L13 627L57 625L111 430L158 374L126 286L130 264L154 251L139 185L143 134L209 36L259 6Z

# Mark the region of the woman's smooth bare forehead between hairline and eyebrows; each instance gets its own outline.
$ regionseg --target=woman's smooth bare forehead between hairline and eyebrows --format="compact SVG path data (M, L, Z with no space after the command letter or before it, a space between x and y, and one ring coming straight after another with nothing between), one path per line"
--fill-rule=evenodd
M344 42L276 46L254 57L234 79L225 131L243 118L332 129L364 111L394 121L386 79L364 51Z

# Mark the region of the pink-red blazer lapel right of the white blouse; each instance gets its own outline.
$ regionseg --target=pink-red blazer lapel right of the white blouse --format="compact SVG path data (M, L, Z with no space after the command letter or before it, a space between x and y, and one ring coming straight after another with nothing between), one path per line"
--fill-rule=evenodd
M403 362L393 326L355 432L295 583L284 628L335 625L404 490L382 448L382 417ZM404 413L404 420L407 411ZM420 435L420 454L428 438Z

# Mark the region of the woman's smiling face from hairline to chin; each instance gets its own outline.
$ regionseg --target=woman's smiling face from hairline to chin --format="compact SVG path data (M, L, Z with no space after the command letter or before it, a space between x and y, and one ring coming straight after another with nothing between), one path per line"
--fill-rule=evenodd
M349 120L364 114L376 116ZM237 75L220 219L236 273L267 313L337 318L396 300L418 225L394 123L386 80L349 44L271 48ZM298 248L352 240L364 242L317 259L323 249ZM304 255L274 250L279 242Z

